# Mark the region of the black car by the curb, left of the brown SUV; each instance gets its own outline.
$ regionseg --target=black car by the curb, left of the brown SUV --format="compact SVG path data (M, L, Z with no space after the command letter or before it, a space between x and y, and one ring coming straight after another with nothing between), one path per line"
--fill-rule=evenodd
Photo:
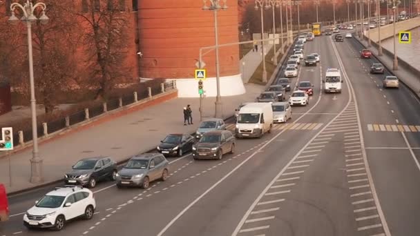
M194 137L188 134L172 134L166 136L158 146L158 152L165 156L182 157L184 153L192 150Z

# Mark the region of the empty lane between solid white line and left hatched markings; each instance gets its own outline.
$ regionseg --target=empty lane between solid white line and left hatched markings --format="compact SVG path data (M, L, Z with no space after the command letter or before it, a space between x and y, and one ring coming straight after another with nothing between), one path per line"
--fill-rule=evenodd
M182 215L164 235L231 235L251 203L315 132L287 131Z

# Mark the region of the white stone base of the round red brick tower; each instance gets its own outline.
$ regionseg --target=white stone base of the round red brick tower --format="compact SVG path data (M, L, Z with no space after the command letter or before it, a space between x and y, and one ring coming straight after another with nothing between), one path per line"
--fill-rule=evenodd
M197 79L175 79L178 88L178 97L200 97L198 94ZM216 97L216 77L207 78L203 81L205 97ZM245 86L242 75L231 75L220 77L220 95L222 97L242 95L245 93Z

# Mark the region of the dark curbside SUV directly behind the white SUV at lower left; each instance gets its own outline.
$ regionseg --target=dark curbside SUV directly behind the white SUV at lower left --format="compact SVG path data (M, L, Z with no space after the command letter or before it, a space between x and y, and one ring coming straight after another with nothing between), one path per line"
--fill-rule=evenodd
M70 173L64 178L66 185L87 186L95 188L97 181L115 180L117 175L117 162L111 157L90 157L81 159L72 166Z

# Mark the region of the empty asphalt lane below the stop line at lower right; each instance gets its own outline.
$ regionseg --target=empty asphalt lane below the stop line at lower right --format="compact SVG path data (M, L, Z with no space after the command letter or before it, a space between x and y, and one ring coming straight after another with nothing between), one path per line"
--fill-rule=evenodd
M420 172L409 151L367 149L366 153L392 235L418 235Z

